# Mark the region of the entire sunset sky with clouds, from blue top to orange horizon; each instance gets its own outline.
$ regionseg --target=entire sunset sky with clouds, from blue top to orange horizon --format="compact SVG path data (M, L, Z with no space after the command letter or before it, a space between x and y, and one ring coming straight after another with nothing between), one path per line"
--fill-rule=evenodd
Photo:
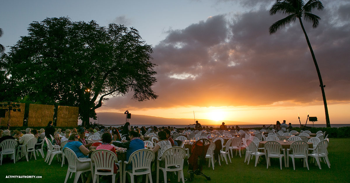
M319 81L299 22L269 35L282 15L273 0L13 0L1 2L0 43L13 46L32 21L68 16L125 24L153 45L159 98L111 98L96 112L293 124L307 112L325 124ZM323 0L318 28L303 22L314 49L331 124L350 124L350 1ZM9 48L6 48L9 51Z

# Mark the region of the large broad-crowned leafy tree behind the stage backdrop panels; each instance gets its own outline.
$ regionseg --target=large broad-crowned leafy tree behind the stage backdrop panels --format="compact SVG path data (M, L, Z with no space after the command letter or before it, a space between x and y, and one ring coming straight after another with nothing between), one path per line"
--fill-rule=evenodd
M138 30L120 24L68 17L32 22L29 34L10 48L7 75L21 97L42 104L79 106L83 124L110 96L133 92L138 101L156 99L152 46Z

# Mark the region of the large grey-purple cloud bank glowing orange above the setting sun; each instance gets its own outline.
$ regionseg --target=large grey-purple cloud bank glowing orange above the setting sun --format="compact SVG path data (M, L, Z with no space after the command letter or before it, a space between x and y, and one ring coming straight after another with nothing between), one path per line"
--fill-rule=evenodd
M267 2L267 1L264 1ZM318 28L304 21L329 104L350 101L349 3L315 11ZM283 18L266 8L217 15L182 30L169 30L153 49L159 98L141 103L131 96L110 99L112 108L175 106L322 105L315 65L298 22L269 35Z

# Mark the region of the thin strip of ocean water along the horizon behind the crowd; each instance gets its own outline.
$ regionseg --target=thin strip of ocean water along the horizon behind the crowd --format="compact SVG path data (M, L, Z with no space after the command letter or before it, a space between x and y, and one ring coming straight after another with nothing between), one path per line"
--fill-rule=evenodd
M213 127L213 128L218 128L220 125L203 125L201 124L202 127L203 126L208 126L208 127ZM233 124L233 125L230 125L230 124L225 124L227 127L232 127L232 126L235 126L238 125L238 124ZM254 128L254 127L261 127L262 128L262 125L264 124L259 124L259 125L238 125L240 128ZM266 126L269 126L270 124L265 124ZM304 125L304 124L303 124ZM104 125L104 126L107 126L109 127L109 125ZM112 124L111 124L112 126ZM156 127L162 127L162 126L170 126L170 127L175 127L175 128L184 128L188 125L139 125L139 124L131 124L131 126L138 126L138 127L141 127L141 126L145 126L145 127L150 127L150 126L156 126ZM292 124L293 127L299 127L300 124ZM312 124L307 124L306 126L308 127L312 127ZM344 126L350 126L350 124L331 124L330 125L332 128L339 128L339 127L344 127ZM273 125L271 126L273 127ZM326 124L315 124L315 127L326 127Z

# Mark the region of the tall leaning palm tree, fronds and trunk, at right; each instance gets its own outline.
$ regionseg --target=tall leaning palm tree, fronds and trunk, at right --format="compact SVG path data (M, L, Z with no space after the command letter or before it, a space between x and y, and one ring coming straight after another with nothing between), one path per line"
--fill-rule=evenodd
M306 42L309 46L312 59L314 61L318 79L320 80L320 87L322 91L322 97L323 97L323 104L324 104L324 111L326 116L326 124L327 127L330 127L330 121L329 121L329 115L328 115L328 108L327 108L327 101L326 96L324 93L324 87L322 82L322 77L320 73L320 69L318 69L316 57L314 54L314 51L311 47L311 43L309 41L309 37L306 34L305 28L303 26L303 22L301 21L301 17L304 17L305 21L312 22L313 28L316 28L318 26L318 23L320 22L321 18L317 15L312 14L311 12L317 8L318 10L323 9L322 2L319 0L309 0L308 2L304 2L304 0L276 0L276 2L272 5L270 9L270 15L274 15L276 13L285 14L288 15L287 17L275 22L272 24L272 26L269 27L269 33L270 35L275 33L279 28L286 26L286 24L295 22L297 19L300 22L300 26L303 29Z

